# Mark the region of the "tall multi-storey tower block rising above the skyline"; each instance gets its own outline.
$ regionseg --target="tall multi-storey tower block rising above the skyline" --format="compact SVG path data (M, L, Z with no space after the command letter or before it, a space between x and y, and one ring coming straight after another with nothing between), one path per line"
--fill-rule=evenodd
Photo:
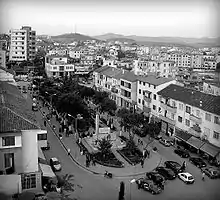
M33 60L36 55L36 32L29 26L10 30L9 60Z

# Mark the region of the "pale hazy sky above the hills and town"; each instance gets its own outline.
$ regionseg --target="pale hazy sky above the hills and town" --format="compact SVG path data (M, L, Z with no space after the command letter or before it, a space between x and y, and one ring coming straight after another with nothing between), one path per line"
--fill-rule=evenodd
M220 37L220 0L0 0L0 32Z

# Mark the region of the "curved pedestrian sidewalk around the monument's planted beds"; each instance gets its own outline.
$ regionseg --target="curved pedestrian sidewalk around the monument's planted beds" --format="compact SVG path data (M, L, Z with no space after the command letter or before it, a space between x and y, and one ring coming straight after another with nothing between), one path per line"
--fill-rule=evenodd
M48 109L46 107L41 107L40 112L45 112L48 114ZM59 122L56 121L55 117L52 117L50 119L50 122L48 122L50 125L50 128L52 128L53 125L55 125L55 134L57 135L59 139ZM125 164L124 168L112 168L112 167L105 167L99 164L96 164L95 166L86 167L86 156L80 154L80 150L78 145L76 144L76 139L74 135L70 135L69 137L63 136L61 143L63 144L64 148L67 150L68 148L71 150L71 157L73 161L80 166L81 168L84 168L87 171L90 171L93 174L101 174L103 175L105 171L111 172L114 177L129 177L129 176L137 176L141 174L145 174L146 172L154 170L158 165L161 163L161 156L157 152L151 151L150 158L147 158L145 160L144 167L142 168L140 164L136 166L131 166L127 163ZM115 153L115 151L113 150ZM117 156L116 157L120 157ZM123 162L124 159L120 159Z

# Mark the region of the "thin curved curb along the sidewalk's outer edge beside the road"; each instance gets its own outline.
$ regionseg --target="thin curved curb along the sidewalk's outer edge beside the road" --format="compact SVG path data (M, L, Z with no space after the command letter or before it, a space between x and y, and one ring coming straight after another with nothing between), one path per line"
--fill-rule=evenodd
M39 111L40 111L41 115L43 116L43 113L42 113L41 109L39 109ZM46 120L47 120L47 119L46 119ZM49 126L50 126L50 128L51 128L53 134L57 137L57 139L58 139L59 142L61 143L62 147L66 150L66 152L68 152L67 147L65 146L64 142L63 142L62 140L60 140L59 136L58 136L57 133L54 131L54 129L53 129L51 123L50 123L48 120L47 120L47 123L49 124ZM94 175L102 175L102 176L104 176L104 173L96 172L96 171L93 171L93 170L91 170L91 169L89 169L89 168L83 166L81 163L79 163L79 162L72 156L71 153L70 153L69 156L71 157L72 161L73 161L75 164L77 164L80 168L82 168L83 170L85 170L85 171L87 171L87 172L90 172L91 174L94 174ZM154 167L154 168L153 168L152 170L150 170L150 171L153 171L154 169L156 169L156 168L161 164L161 162L162 162L162 157L160 156L160 160L159 160L158 164L156 165L156 167ZM146 172L148 172L148 171L146 171ZM126 178L126 177L139 176L139 175L146 174L146 172L140 172L140 173L129 174L129 175L121 175L121 176L119 176L119 175L113 175L113 178Z

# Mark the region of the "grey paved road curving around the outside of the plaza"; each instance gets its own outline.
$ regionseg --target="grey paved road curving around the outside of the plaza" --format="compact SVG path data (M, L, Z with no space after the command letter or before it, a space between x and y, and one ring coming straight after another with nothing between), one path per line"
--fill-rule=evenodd
M27 84L27 83L25 83ZM29 105L31 106L31 99L27 98ZM36 118L42 124L42 117L40 113L36 112ZM220 180L210 180L206 177L203 182L201 180L201 172L195 166L187 162L187 169L195 177L195 183L193 185L186 185L180 180L176 179L168 181L165 185L165 190L162 194L153 196L148 192L137 190L135 184L129 184L131 178L125 179L106 179L102 176L96 176L90 174L83 169L75 165L72 160L67 156L64 149L61 147L58 139L54 136L51 129L47 127L48 139L51 144L51 150L46 151L46 158L56 156L60 159L63 169L61 174L72 173L75 175L75 182L82 186L82 189L77 188L75 196L78 196L82 200L114 200L118 198L118 187L121 180L125 182L125 199L127 200L217 200L220 197ZM173 153L172 148L163 147L160 144L156 144L160 154L164 160L175 160L180 163L183 159ZM131 189L131 190L130 190ZM131 198L130 198L131 197Z

